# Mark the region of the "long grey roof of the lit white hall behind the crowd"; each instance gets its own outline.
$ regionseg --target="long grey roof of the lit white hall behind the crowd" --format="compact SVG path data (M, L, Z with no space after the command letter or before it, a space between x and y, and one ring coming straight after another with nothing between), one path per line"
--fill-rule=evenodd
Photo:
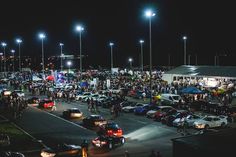
M165 74L175 74L181 76L213 76L236 78L236 66L192 66L182 65L176 67Z

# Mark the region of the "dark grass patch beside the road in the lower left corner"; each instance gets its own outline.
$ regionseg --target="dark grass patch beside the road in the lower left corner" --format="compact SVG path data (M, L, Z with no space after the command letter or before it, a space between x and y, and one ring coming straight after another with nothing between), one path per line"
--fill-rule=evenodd
M41 144L33 140L10 122L0 123L0 133L7 134L10 137L11 144L3 147L2 149L4 150L23 152L42 149Z

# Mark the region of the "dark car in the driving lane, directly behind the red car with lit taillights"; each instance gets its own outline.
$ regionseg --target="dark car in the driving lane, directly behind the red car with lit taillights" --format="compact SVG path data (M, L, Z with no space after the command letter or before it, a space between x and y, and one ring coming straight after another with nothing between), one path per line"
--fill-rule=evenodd
M83 119L83 125L85 127L96 127L106 123L107 120L105 120L101 115L90 115Z

